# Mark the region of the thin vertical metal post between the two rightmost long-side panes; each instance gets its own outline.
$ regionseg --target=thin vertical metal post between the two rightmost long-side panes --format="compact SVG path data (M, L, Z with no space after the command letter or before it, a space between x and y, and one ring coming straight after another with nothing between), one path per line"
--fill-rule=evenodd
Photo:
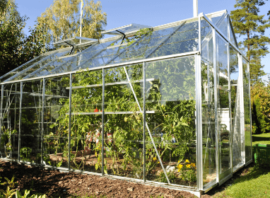
M143 182L146 182L146 63L143 62Z

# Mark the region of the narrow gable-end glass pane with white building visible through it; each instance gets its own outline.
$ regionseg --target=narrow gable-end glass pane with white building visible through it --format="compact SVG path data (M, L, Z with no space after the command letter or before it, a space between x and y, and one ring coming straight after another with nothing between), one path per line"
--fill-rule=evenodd
M228 72L228 43L216 36L216 89L218 122L219 181L231 173L230 166L230 84Z

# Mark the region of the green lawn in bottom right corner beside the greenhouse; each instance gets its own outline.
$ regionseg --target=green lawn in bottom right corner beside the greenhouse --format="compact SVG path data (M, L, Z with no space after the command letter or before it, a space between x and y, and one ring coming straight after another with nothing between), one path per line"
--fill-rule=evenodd
M233 181L233 185L218 192L213 197L270 197L270 170L252 166L247 173Z

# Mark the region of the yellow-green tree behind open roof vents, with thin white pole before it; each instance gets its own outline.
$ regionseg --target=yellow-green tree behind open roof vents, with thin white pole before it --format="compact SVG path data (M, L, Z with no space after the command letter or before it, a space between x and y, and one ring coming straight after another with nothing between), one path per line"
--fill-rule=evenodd
M52 40L62 40L80 35L81 0L54 0L54 3L37 18L38 23L47 24ZM82 36L99 39L101 31L107 25L107 14L101 10L98 1L85 0L83 7Z

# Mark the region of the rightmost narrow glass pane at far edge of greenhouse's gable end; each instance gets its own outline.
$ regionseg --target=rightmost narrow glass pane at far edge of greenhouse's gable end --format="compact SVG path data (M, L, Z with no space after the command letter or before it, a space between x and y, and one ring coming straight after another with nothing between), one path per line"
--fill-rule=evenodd
M245 113L245 158L246 162L252 160L252 136L250 122L250 69L243 58L243 88L244 88L244 113Z

